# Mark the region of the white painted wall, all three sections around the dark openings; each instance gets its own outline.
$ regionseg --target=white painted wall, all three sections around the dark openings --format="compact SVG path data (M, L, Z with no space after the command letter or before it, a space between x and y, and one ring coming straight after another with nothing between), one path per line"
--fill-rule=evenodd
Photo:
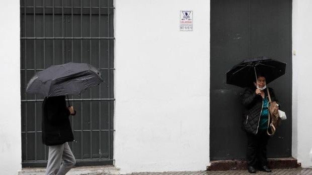
M0 5L0 170L16 174L22 161L19 2ZM115 7L116 166L121 172L204 170L210 2L118 0ZM292 155L303 167L312 166L309 7L310 0L293 0ZM180 10L194 11L193 32L179 31Z

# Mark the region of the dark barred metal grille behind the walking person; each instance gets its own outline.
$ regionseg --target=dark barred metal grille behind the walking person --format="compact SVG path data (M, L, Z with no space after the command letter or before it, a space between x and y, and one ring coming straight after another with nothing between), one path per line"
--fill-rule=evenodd
M76 165L113 164L113 0L21 0L22 166L45 166L43 96L26 94L35 72L67 62L100 68L104 82L69 100Z

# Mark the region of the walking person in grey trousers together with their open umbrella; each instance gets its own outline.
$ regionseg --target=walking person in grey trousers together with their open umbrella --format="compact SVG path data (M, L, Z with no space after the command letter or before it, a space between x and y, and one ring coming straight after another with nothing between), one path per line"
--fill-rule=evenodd
M85 63L51 66L37 72L28 82L27 93L45 96L42 103L42 141L49 146L46 175L66 174L76 163L68 145L74 140L69 115L75 115L76 111L69 102L66 106L65 95L79 95L101 82L98 69Z

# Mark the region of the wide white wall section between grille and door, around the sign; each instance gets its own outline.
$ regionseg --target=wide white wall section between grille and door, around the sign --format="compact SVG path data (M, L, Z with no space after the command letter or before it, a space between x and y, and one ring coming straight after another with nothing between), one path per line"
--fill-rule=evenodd
M115 142L121 172L209 163L210 1L115 1ZM179 31L181 10L194 30Z

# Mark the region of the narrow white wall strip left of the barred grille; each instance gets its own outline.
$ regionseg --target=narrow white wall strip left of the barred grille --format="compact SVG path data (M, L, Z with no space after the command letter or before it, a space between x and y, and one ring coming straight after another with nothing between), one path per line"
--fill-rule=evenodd
M20 3L0 2L0 171L21 169Z

